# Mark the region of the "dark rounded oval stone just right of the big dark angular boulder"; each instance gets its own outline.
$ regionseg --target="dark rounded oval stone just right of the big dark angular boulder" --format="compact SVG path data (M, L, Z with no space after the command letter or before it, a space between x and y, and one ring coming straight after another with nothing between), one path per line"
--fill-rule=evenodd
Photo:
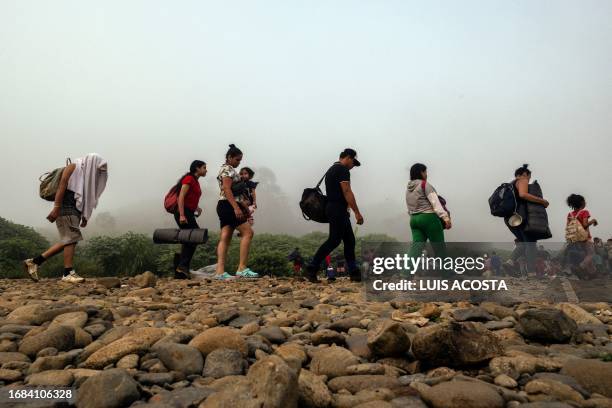
M546 343L567 343L576 329L576 322L565 312L548 308L527 310L517 327L523 337Z

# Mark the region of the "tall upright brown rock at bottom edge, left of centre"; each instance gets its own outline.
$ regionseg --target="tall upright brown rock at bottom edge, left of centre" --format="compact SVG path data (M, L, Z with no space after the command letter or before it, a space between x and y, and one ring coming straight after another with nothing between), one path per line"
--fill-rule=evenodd
M282 358L272 355L259 360L249 369L247 379L263 407L297 407L298 375Z

